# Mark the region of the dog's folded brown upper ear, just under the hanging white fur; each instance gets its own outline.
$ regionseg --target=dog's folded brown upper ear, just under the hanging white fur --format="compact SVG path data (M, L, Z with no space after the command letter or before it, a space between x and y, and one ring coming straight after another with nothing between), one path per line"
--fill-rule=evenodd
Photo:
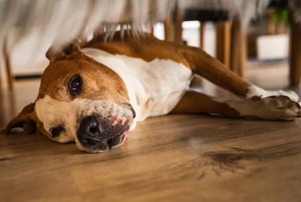
M79 43L80 40L75 39L73 42L65 44L64 46L52 45L46 52L46 58L48 58L50 62L53 62L82 53Z

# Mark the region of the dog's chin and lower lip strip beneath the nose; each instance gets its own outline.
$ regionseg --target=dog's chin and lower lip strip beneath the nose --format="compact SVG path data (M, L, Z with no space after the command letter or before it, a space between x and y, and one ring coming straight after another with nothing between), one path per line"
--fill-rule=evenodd
M97 144L95 144L93 146L84 146L79 141L76 141L76 144L80 150L86 151L89 153L105 152L109 149L116 148L116 147L120 146L121 144L123 144L127 137L127 134L130 131L129 128L130 127L127 126L126 129L122 133L117 134L110 139L99 141Z

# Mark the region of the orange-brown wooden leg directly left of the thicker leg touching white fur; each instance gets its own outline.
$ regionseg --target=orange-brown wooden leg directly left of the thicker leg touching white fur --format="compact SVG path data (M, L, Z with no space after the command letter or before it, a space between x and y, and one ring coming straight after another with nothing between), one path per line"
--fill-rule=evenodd
M230 22L223 21L216 24L216 58L230 66Z

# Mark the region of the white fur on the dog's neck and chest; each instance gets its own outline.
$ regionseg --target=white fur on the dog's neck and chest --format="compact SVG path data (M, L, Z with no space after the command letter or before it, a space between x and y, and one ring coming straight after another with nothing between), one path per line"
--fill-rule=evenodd
M84 48L83 52L123 79L137 121L169 113L189 88L191 70L172 60L146 62L92 48Z

